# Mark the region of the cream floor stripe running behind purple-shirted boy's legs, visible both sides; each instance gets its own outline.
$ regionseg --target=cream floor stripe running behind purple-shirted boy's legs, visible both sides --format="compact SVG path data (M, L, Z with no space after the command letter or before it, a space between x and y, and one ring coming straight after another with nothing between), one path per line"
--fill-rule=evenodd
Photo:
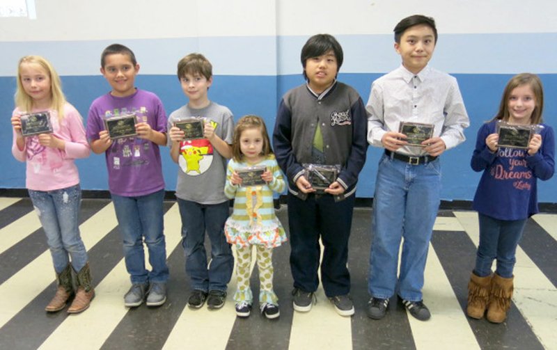
M178 205L173 205L166 212L164 230L166 253L168 254L180 241ZM174 234L174 232L178 232L178 234ZM89 309L82 314L72 315L65 319L56 328L56 331L42 343L40 349L65 349L74 347L75 344L87 344L89 349L100 349L127 313L123 296L129 288L130 277L122 259L95 287L96 296Z

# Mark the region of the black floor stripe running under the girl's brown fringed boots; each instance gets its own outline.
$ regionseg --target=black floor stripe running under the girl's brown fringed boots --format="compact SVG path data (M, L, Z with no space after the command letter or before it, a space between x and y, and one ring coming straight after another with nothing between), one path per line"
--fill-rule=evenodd
M430 251L430 254L437 253L462 312L466 313L467 286L476 260L476 246L466 232L446 231L434 231L432 245L434 252ZM543 349L515 303L511 305L507 321L502 324L469 317L467 320L481 349Z

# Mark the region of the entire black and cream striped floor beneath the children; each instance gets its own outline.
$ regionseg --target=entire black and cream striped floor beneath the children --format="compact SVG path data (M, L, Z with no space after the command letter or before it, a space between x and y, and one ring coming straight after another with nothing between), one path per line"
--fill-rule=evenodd
M123 294L130 287L118 227L109 200L84 200L81 235L89 249L96 297L81 315L47 314L54 294L52 261L45 235L29 198L0 198L0 349L557 349L557 215L528 221L517 250L515 294L508 320L500 325L464 315L466 285L478 244L474 212L439 213L425 270L427 322L409 317L393 299L381 321L366 317L370 248L369 208L354 211L349 265L356 315L344 318L317 291L307 314L293 312L290 246L274 253L274 285L281 317L255 312L237 319L231 299L223 309L189 310L191 292L180 245L180 215L165 203L166 249L171 280L160 308L128 310ZM286 208L278 210L288 228ZM257 269L252 276L258 295ZM257 308L255 308L257 310Z

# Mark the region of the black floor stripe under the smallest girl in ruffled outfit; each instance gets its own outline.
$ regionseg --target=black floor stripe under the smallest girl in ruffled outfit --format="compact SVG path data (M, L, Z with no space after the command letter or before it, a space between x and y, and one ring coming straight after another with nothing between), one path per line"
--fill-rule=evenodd
M284 208L284 207L283 207ZM288 233L288 217L286 209L276 212L279 220ZM251 292L253 293L253 309L247 319L237 318L234 322L227 350L235 349L288 349L288 339L292 328L292 273L290 273L290 242L273 250L274 292L278 296L281 316L278 319L265 319L259 312L259 273L257 265L251 275ZM256 259L255 256L252 259ZM236 278L234 275L233 278ZM228 292L234 293L235 290ZM320 301L323 302L323 301Z

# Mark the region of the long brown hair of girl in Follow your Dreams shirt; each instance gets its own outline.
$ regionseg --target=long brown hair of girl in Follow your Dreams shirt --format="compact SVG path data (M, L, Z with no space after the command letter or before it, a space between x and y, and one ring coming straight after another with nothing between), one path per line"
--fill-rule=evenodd
M524 85L530 86L535 98L535 107L530 118L531 124L540 124L541 122L543 122L542 113L544 109L544 88L542 86L540 77L538 77L536 74L531 73L517 74L515 75L515 77L512 77L509 80L507 86L505 86L505 90L503 90L503 96L501 97L499 111L497 112L495 118L493 118L492 120L509 120L510 93L512 93L512 90L515 90L515 88Z

